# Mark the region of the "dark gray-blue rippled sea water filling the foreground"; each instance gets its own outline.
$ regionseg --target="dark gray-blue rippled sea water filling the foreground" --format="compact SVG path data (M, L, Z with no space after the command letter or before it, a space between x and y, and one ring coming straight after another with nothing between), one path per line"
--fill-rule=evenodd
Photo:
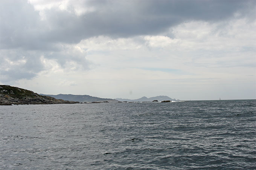
M0 169L256 169L256 100L0 106Z

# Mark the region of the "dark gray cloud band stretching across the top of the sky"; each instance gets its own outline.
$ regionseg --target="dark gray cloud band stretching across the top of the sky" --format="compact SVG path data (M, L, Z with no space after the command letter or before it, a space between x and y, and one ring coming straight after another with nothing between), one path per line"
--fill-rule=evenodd
M255 1L89 1L85 5L94 12L77 16L72 6L69 12L51 8L41 20L32 5L14 2L1 2L1 48L53 50L56 42L78 43L92 36L155 35L184 21L226 20L255 9Z

